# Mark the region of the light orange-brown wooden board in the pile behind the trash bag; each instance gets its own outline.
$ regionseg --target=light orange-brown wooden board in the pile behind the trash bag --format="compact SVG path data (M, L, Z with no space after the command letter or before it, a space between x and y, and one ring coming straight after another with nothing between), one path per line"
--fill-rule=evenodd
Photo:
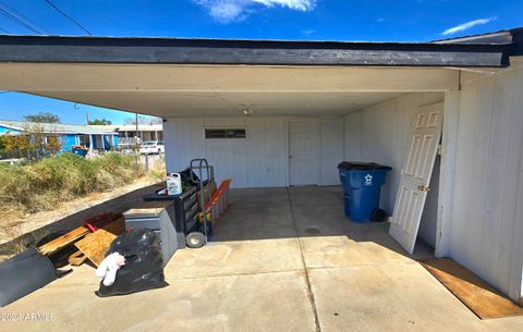
M104 258L106 258L106 253L109 249L111 242L124 231L125 219L120 218L106 225L104 229L85 236L83 239L75 243L74 246L98 267Z

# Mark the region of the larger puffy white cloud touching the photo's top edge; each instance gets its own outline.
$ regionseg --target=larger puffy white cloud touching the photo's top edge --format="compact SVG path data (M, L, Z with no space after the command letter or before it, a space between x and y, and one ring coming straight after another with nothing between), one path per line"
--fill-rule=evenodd
M316 0L193 0L198 5L206 8L209 14L221 23L244 20L251 8L258 4L267 8L276 5L296 11L311 11L316 7Z

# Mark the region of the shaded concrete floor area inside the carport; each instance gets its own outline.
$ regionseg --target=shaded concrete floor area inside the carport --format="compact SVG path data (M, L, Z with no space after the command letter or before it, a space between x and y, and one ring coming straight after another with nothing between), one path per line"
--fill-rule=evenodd
M414 255L409 255L388 235L388 222L350 221L343 212L341 186L231 189L229 200L216 223L214 242L346 236L413 259L434 257L434 248L421 238Z

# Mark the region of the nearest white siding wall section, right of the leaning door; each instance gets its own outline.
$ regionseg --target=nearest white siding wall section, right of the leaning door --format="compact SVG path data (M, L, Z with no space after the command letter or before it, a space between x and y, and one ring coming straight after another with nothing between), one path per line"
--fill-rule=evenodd
M515 300L523 258L522 149L523 66L464 82L451 255Z

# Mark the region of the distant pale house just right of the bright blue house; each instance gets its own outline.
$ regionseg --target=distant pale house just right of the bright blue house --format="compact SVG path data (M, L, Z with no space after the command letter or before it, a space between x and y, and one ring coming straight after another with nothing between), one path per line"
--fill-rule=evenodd
M121 148L136 145L136 125L134 124L89 125L89 127L99 127L117 132L119 137L119 146ZM148 140L162 140L163 127L161 124L138 124L137 137L139 138L138 143Z

